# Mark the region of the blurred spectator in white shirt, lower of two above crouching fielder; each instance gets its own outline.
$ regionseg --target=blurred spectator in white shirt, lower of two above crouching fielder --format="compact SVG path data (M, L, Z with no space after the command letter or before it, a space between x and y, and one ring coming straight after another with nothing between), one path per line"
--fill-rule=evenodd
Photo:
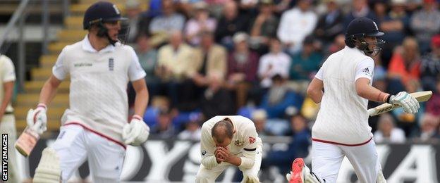
M282 49L279 39L273 38L270 40L270 52L259 59L258 77L260 87L269 89L274 75L281 75L284 78L288 77L291 58L288 54L283 53Z

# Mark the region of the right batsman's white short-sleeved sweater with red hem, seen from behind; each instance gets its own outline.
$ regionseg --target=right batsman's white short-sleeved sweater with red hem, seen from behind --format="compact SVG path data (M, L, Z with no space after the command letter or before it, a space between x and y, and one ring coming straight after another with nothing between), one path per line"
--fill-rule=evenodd
M360 77L372 81L373 69L371 57L348 46L326 59L315 75L324 82L324 96L312 127L312 139L349 145L372 139L368 100L357 95L355 81Z

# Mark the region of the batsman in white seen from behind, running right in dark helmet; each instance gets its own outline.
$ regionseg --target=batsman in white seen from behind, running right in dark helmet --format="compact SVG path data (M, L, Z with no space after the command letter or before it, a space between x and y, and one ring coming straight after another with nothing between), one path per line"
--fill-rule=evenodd
M383 101L417 113L417 100L407 92L386 94L372 87L374 61L384 35L373 20L356 18L346 32L346 47L331 54L310 83L307 94L321 103L312 127L312 170L301 158L293 161L289 182L336 182L344 156L362 183L386 182L377 156L367 103ZM324 92L323 92L324 89Z

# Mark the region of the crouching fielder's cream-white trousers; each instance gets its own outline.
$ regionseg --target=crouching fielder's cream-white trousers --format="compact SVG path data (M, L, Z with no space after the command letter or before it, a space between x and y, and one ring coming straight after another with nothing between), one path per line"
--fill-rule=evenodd
M257 151L255 153L255 163L252 166L251 169L243 169L240 168L240 171L243 172L243 179L245 177L258 177L259 168L261 166L261 160L262 160L262 142L259 141L259 144L257 146ZM241 154L237 155L238 157L241 156ZM214 183L216 178L219 177L221 172L226 170L226 168L229 168L232 166L229 163L221 163L220 165L215 166L214 168L208 170L204 168L203 165L200 165L199 171L197 172L197 183Z

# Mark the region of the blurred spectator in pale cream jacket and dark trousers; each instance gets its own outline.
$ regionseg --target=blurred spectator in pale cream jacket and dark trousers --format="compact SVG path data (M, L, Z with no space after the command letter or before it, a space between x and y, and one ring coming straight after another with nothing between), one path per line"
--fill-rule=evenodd
M176 107L183 100L190 100L193 92L188 86L188 77L194 73L193 48L183 42L181 31L171 33L170 44L162 46L158 51L157 75L171 98L172 106Z

